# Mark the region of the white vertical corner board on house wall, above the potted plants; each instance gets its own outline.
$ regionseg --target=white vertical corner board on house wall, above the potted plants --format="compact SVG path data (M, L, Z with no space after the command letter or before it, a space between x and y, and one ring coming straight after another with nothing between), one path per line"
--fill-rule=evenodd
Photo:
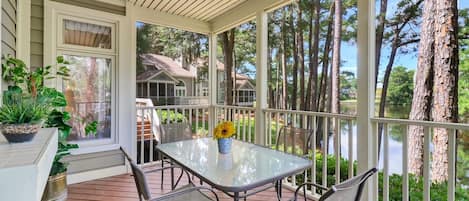
M31 0L21 0L17 2L16 15L16 58L24 61L30 67L30 46L31 46Z

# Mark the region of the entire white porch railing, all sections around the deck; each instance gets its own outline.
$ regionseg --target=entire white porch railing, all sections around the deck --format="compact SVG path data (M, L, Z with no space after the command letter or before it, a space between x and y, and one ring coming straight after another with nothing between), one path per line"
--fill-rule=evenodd
M212 110L213 109L213 110ZM340 183L348 178L356 175L357 165L357 131L356 116L344 114L330 114L309 111L292 111L278 109L264 109L263 115L265 122L265 133L261 135L265 137L266 146L273 147L276 138L280 134L283 126L294 126L299 128L311 129L315 133L315 137L311 138L311 150L308 155L312 160L312 166L304 174L296 175L285 179L287 187L295 188L298 184L307 181L313 181L323 186L331 186ZM210 112L214 112L213 115ZM211 136L209 133L209 125L216 125L222 121L232 121L235 124L239 140L254 143L255 138L259 135L255 133L255 127L259 126L259 122L255 122L255 108L239 107L239 106L208 106L208 105L181 105L181 106L156 106L156 107L137 107L137 114L140 115L157 115L160 120L161 128L177 123L187 123L190 125L190 132L195 137ZM173 115L174 117L166 118ZM142 121L137 121L138 152L140 164L152 164L158 158L156 157L154 136L146 136L145 131L149 128L153 129L154 118L149 118L150 122L142 117ZM210 124L212 122L213 124ZM148 126L151 125L150 127ZM431 136L432 130L435 128L446 129L449 131L448 136L448 178L447 182L447 200L454 201L456 189L456 134L461 131L469 131L469 125L456 123L438 123L427 121L411 121L402 119L388 118L372 118L373 134L379 135L378 125L382 125L382 143L379 161L380 173L379 178L382 183L379 186L379 196L383 201L390 199L391 183L390 183L390 140L389 135L392 129L401 127L398 134L402 138L402 155L398 156L402 160L402 200L409 200L410 174L408 164L409 136L407 130L409 126L419 126L424 131L424 172L423 172L423 200L429 201L431 176ZM395 132L394 132L395 133ZM378 188L378 187L377 187ZM307 189L309 196L318 198L317 189ZM381 199L380 199L381 200Z

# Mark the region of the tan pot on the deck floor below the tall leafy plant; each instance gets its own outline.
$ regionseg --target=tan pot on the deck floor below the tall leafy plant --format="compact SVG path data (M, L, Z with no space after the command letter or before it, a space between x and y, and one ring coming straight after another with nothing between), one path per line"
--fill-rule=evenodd
M42 201L65 201L67 200L67 173L49 176L47 180Z

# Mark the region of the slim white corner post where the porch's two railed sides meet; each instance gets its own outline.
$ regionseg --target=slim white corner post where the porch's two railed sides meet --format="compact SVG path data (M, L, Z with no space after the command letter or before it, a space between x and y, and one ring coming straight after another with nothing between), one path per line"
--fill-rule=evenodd
M213 133L216 123L215 105L217 105L217 34L211 33L208 35L208 132L209 135Z

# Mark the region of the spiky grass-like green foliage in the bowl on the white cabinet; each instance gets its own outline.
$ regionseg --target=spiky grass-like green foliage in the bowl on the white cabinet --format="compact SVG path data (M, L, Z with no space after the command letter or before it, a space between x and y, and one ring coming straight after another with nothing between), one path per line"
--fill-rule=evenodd
M3 124L40 123L47 118L47 105L23 100L17 104L4 104L0 107L0 122Z

